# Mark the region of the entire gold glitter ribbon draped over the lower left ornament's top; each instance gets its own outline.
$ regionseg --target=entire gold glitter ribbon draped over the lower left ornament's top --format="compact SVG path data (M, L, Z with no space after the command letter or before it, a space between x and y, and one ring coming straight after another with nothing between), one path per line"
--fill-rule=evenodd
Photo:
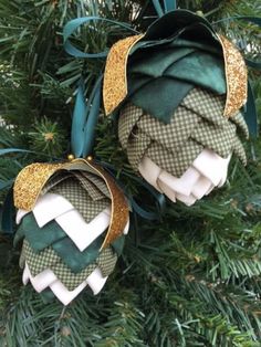
M63 164L35 162L27 166L18 175L13 197L18 209L32 211L36 200L48 180L59 170L69 169L73 164L82 162L91 167L97 176L102 177L108 188L112 198L112 214L108 231L101 246L101 251L115 241L122 233L128 221L128 203L123 191L117 187L114 179L98 165L85 159L74 159Z

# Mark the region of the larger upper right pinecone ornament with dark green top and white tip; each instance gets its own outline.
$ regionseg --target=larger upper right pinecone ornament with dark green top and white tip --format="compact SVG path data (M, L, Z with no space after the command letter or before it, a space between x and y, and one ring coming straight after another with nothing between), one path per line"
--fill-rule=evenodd
M176 10L111 49L103 98L106 114L118 113L134 170L190 206L226 182L233 154L247 162L247 85L236 46L202 17Z

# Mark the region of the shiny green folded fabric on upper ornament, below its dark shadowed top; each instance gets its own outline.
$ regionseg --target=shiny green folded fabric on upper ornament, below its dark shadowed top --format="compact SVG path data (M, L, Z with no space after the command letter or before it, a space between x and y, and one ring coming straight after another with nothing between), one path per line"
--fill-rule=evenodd
M176 39L130 61L128 101L166 124L194 86L226 93L223 61L209 44Z

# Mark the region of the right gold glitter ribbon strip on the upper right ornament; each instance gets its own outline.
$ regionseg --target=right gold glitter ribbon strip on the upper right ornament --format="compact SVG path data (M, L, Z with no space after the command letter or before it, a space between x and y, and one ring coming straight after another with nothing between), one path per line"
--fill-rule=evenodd
M243 56L225 36L218 35L223 50L227 101L223 115L234 116L248 97L248 71Z

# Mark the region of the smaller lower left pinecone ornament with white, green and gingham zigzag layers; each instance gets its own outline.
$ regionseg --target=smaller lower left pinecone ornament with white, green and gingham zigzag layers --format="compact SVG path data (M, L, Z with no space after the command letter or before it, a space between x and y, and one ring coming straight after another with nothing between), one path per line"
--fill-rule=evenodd
M64 305L86 286L97 294L128 231L128 204L113 178L92 160L32 164L15 180L14 204L23 283Z

